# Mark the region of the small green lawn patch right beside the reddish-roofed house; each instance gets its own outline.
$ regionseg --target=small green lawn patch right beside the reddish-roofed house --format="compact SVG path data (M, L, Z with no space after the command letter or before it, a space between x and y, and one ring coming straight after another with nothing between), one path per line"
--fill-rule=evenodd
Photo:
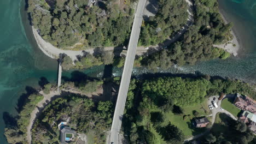
M232 115L237 117L238 113L240 113L241 110L238 109L235 105L233 105L231 101L232 100L227 98L222 100L222 108L229 111L230 113L232 113Z

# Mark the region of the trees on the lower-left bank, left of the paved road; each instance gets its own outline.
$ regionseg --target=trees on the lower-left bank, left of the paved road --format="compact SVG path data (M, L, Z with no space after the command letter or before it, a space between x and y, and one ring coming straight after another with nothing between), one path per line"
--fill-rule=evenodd
M73 78L74 79L74 78ZM65 80L60 87L61 95L55 95L53 101L46 105L33 124L32 143L59 143L58 125L62 121L69 121L79 134L94 133L96 143L106 141L106 130L112 123L113 102L89 99L85 94L96 92L102 87L103 81L79 77L79 80ZM71 89L78 93L65 93ZM44 94L56 91L56 86L46 83L42 87ZM30 123L31 113L44 96L39 91L33 91L22 99L24 105L18 109L18 116L9 116L5 128L8 143L27 143L27 127ZM104 131L105 130L105 131Z

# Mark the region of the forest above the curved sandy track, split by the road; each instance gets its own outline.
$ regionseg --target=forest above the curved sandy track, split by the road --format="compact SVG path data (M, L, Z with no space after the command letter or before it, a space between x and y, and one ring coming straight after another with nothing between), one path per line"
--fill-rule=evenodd
M43 39L61 49L118 46L128 44L134 2L108 0L89 7L83 0L29 0L28 13ZM162 43L187 22L188 4L184 0L161 0L158 5L156 16L143 24L142 45Z

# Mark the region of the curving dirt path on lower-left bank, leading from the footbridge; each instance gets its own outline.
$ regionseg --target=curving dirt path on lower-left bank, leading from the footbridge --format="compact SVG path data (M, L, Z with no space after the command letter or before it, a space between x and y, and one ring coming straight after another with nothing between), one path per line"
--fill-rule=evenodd
M53 98L55 95L60 95L59 91L51 91L49 94L44 94L42 91L39 92L44 96L44 99L41 100L36 108L32 111L30 123L27 126L27 141L30 144L31 143L31 129L34 124L34 120L37 118L37 114L43 110L46 104L48 104L51 101L51 98Z

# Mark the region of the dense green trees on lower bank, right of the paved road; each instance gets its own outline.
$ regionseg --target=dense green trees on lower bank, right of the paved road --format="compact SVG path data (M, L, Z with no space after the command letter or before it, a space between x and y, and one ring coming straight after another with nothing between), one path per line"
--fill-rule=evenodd
M184 132L179 129L180 126L174 125L179 122L170 121L170 115L183 116L184 119L189 118L193 121L193 117L198 117L199 113L193 111L194 116L184 115L185 107L200 105L211 95L218 95L222 92L230 94L238 92L256 98L255 90L247 83L214 79L207 75L197 78L156 76L153 79L133 80L130 83L126 101L126 113L123 119L124 134L127 135L126 138L130 143L183 143ZM242 124L243 128L241 123L236 121L232 124L226 127L234 127L237 131L234 134L237 137L248 136L247 142L255 140L252 131L247 129L245 124ZM241 129L243 131L239 132ZM208 140L208 136L206 139L202 137L202 141L205 143L224 142L223 139L218 141L217 139L221 139L218 136L219 134L216 133L214 136L210 135L212 139L215 139L212 142ZM241 139L244 140L244 137ZM229 143L230 141L234 142L233 139L225 140Z

